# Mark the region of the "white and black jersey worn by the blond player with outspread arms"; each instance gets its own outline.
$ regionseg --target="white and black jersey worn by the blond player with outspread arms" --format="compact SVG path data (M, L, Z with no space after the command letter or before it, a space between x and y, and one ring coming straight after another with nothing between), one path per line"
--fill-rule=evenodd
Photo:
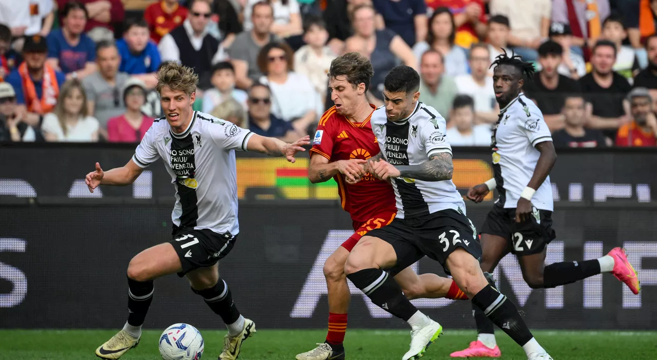
M146 168L164 159L175 185L173 224L237 235L235 150L246 151L251 131L195 111L183 133L175 134L166 118L155 120L132 160Z

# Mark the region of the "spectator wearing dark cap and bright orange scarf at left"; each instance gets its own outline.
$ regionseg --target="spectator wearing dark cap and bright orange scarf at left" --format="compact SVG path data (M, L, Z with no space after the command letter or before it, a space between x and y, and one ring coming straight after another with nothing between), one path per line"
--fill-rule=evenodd
M48 45L40 35L25 38L24 61L7 76L16 91L19 113L26 112L24 120L35 129L41 124L41 116L51 112L57 104L60 88L66 76L46 62Z

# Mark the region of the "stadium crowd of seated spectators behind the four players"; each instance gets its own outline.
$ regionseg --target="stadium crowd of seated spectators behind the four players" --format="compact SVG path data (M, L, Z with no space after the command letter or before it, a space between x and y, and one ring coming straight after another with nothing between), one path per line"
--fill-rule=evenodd
M126 8L131 9L126 11ZM489 146L503 51L555 146L657 146L657 0L27 0L0 3L0 141L136 142L162 116L154 76L200 74L194 109L285 141L332 106L330 62L417 69L453 146Z

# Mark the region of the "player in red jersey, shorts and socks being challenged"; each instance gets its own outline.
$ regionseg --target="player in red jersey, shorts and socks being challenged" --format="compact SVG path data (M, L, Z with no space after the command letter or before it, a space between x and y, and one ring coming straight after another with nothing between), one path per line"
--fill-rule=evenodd
M388 225L397 213L392 186L365 173L361 165L380 151L369 121L374 105L365 98L373 74L372 64L358 53L338 56L331 62L328 73L335 106L324 113L317 126L310 150L308 177L313 183L335 179L342 208L353 220L354 233L324 264L329 311L326 341L311 351L296 355L297 360L345 358L342 342L351 295L344 263L361 236ZM395 275L409 299L467 299L451 279L436 274L417 275L411 268L392 269L390 273Z

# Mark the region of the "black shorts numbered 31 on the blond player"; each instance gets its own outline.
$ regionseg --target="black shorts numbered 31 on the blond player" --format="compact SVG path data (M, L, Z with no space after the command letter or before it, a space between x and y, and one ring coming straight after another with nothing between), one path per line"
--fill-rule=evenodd
M236 235L219 234L210 229L193 229L190 227L173 226L171 245L178 254L183 270L179 277L199 267L212 266L226 256L233 246Z

